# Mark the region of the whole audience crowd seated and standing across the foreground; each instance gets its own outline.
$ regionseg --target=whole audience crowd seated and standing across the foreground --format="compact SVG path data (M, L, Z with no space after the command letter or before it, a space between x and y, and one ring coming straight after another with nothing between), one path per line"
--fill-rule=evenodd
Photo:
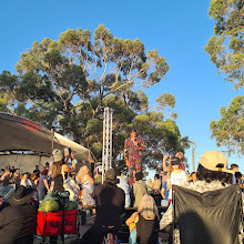
M84 244L102 243L108 232L116 234L126 207L135 210L125 221L130 230L129 243L157 243L157 231L173 222L173 185L201 193L231 184L240 184L243 187L238 166L232 164L228 170L227 159L216 151L204 153L197 171L191 175L184 171L184 155L179 152L174 156L163 157L161 171L154 175L153 181L145 182L141 171L134 172L133 177L126 177L114 169L109 169L103 184L98 170L94 177L85 164L75 170L72 153L64 156L61 150L55 149L52 156L51 165L47 164L41 170L37 165L32 174L20 174L14 166L2 171L1 186L14 184L16 190L8 201L0 196L0 244L33 243L38 206L43 205L53 192L67 194L64 183L68 177L75 180L82 192L75 201L85 206L95 206L94 224L81 240ZM159 214L159 206L166 209L163 216ZM175 232L174 238L180 243L179 231ZM51 237L50 243L57 243L57 236Z

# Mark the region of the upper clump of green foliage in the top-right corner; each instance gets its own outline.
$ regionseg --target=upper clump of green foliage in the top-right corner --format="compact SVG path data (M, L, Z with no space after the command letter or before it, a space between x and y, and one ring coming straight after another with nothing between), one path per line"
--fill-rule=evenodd
M205 51L235 89L244 85L244 1L212 0L209 16L215 19L214 35Z

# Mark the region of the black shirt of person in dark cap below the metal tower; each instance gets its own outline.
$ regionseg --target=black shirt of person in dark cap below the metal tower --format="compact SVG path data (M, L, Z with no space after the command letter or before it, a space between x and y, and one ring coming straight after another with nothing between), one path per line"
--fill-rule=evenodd
M98 185L92 197L95 200L95 225L119 226L124 213L124 191L112 183Z

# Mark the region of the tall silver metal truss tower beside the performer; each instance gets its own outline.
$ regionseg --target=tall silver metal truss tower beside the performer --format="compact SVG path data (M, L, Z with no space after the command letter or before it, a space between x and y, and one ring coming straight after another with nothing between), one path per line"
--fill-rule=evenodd
M102 146L102 182L104 172L112 167L112 125L113 110L104 108L103 112L103 146Z

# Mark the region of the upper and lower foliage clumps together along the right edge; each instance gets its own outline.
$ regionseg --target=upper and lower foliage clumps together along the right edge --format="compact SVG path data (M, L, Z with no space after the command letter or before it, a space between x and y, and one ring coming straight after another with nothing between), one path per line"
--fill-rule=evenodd
M205 51L220 72L234 83L235 89L244 85L244 1L212 0L209 10L215 19L214 35ZM230 108L221 108L221 119L211 123L212 138L217 146L226 146L228 153L243 154L243 96L235 98Z

